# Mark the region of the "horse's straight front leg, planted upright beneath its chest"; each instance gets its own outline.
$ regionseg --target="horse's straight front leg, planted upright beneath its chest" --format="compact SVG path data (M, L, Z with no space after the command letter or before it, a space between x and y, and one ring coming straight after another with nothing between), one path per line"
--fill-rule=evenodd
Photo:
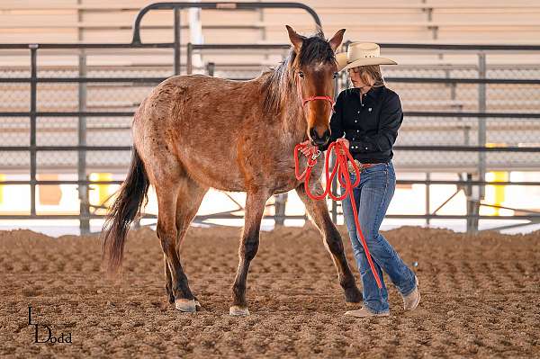
M248 192L246 198L246 214L244 230L238 248L238 272L232 286L232 306L229 314L232 316L247 316L246 280L249 264L257 255L259 230L265 211L266 201L270 197L268 191Z

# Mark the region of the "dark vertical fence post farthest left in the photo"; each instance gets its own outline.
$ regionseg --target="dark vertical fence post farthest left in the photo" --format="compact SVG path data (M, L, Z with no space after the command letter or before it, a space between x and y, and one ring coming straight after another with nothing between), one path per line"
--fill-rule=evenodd
M36 108L38 80L38 45L30 45L30 214L36 214Z

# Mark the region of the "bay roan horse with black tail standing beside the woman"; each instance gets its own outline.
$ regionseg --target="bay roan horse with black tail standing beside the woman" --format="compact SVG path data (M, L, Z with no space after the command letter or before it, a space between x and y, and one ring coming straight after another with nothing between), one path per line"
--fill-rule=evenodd
M165 258L166 292L178 310L191 312L199 307L179 249L210 187L247 193L230 315L249 313L247 271L257 254L266 201L292 189L322 233L346 300L361 300L326 202L311 200L294 175L294 146L306 139L316 145L329 140L337 76L335 50L345 29L331 40L325 40L322 31L311 37L289 26L287 31L293 47L278 67L249 81L173 76L157 85L135 113L130 172L103 227L103 255L109 271L117 272L130 223L152 184L157 193L157 238ZM329 96L329 101L304 101L311 96ZM322 191L323 162L313 168L313 193ZM301 165L305 164L302 156Z

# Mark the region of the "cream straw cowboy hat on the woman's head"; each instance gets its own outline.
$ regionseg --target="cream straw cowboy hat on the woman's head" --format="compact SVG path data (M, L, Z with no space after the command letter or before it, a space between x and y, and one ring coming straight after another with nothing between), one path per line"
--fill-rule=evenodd
M336 54L338 71L358 66L368 65L398 65L390 58L381 58L381 48L373 42L353 42L349 44L347 52Z

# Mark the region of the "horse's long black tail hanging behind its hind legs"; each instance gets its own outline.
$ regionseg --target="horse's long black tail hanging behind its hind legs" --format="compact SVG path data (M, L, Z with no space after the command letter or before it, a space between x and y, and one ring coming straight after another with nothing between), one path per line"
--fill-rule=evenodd
M103 260L110 274L118 273L121 266L124 242L131 222L143 203L148 202L148 175L133 148L130 171L121 184L120 193L112 204L102 230Z

